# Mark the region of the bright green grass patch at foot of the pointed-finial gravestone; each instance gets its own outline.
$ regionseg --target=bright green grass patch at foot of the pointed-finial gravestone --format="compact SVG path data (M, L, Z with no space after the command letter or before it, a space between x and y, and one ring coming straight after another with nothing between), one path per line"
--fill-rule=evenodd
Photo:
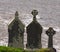
M21 48L0 46L0 52L23 52Z

